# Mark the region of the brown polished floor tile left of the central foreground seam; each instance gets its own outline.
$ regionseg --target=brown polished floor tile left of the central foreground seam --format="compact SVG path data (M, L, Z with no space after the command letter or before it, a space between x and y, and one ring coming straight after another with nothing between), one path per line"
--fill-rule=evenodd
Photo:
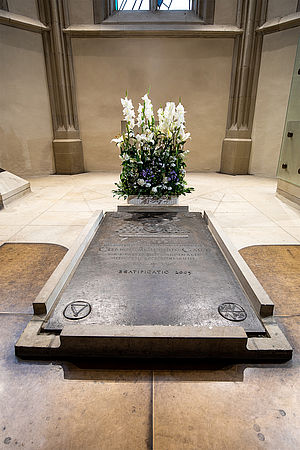
M0 448L151 448L151 372L20 360L27 321L0 314Z

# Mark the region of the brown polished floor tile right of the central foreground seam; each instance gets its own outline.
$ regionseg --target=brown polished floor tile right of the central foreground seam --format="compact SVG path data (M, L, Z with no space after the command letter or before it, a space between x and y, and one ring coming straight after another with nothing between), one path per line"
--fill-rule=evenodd
M154 448L299 448L300 322L281 320L293 361L154 372Z

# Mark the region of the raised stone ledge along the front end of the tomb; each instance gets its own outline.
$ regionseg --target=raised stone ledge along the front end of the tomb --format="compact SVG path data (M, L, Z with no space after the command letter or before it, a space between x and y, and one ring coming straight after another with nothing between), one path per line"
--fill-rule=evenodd
M293 349L275 321L268 337L248 338L241 327L67 326L60 336L40 332L33 318L15 345L22 358L195 358L286 361Z

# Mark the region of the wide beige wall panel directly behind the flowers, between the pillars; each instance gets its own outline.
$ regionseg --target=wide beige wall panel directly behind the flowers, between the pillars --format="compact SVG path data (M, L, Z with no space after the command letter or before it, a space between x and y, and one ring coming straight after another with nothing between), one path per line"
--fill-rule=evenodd
M118 169L120 97L126 89L137 105L151 87L157 109L178 101L187 110L192 134L188 168L220 168L230 74L232 39L73 39L78 112L87 170Z

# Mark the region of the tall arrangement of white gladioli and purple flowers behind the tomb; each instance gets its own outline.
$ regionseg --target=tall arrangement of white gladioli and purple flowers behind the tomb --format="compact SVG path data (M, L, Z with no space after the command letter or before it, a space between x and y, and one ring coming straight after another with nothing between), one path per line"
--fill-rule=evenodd
M185 195L194 190L185 181L184 144L190 138L185 131L185 111L181 101L176 106L168 102L157 111L155 121L153 105L145 94L139 104L137 120L132 101L121 99L126 132L112 139L120 149L122 172L117 189L119 198L129 195L155 198Z

